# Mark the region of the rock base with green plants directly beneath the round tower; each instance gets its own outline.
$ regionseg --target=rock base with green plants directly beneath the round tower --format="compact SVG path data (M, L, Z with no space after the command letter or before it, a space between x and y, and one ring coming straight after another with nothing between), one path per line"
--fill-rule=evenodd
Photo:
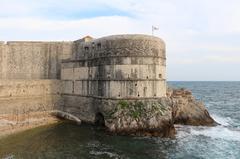
M168 102L166 98L121 100L105 113L105 126L110 132L124 135L173 137L175 128Z

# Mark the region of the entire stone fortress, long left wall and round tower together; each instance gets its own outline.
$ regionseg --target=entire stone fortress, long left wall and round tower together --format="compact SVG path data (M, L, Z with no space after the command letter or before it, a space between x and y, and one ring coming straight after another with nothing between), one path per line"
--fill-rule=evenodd
M139 101L152 107L167 96L165 70L165 44L154 36L1 42L0 129L41 125L59 112L62 117L94 123L108 118L119 102L124 109L127 102ZM141 103L133 106L140 109ZM171 111L166 112L166 121L170 121ZM160 114L162 119L164 114ZM140 115L132 112L134 119ZM115 124L107 124L111 130L116 130L119 122L124 127L124 120L115 120ZM130 127L139 127L132 123ZM159 127L152 123L148 125Z

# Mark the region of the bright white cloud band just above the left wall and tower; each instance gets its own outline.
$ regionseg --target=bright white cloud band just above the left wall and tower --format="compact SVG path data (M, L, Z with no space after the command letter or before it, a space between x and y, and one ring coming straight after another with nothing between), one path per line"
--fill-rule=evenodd
M121 26L121 27L119 27ZM138 22L124 16L80 20L45 20L33 18L0 19L1 40L77 40L86 35L139 33Z

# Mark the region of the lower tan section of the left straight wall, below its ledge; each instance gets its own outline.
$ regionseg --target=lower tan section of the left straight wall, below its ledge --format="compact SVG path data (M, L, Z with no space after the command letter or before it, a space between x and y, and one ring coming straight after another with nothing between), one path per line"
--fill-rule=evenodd
M62 84L59 80L1 80L0 114L60 109Z

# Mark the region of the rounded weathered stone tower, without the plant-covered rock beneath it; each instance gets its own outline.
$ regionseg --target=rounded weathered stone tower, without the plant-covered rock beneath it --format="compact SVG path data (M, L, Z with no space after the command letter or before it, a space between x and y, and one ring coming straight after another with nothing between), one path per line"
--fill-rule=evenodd
M166 96L165 44L159 38L110 36L78 40L73 48L73 58L63 60L61 70L66 112L93 122L101 100Z

